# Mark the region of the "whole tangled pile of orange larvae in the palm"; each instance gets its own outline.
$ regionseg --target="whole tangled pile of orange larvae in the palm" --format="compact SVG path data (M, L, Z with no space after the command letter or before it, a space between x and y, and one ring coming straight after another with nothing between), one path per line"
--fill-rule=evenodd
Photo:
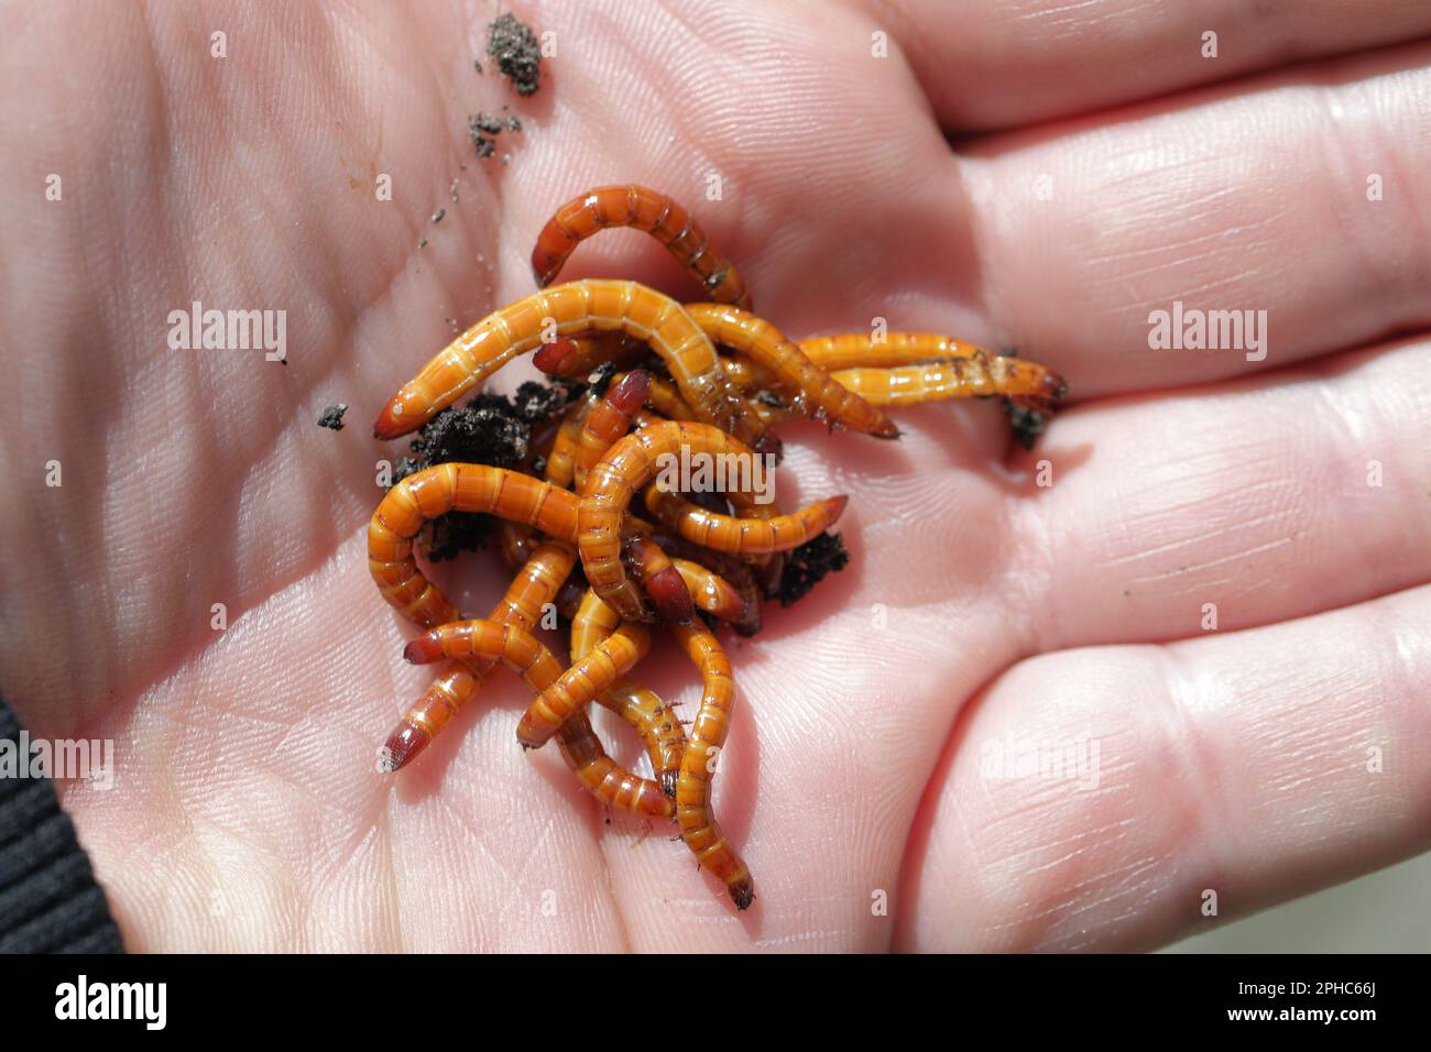
M655 238L708 302L680 303L630 281L552 285L577 245L610 226ZM761 598L788 601L821 558L836 565L831 555L843 558L826 530L844 497L784 512L767 488L748 484L756 458L778 462L771 425L813 418L893 439L899 429L884 406L1000 398L1015 437L1032 445L1065 384L1042 365L933 333L788 341L751 312L736 268L690 213L641 186L600 187L558 209L538 238L532 269L541 291L444 348L373 429L384 439L422 429L414 448L431 467L388 491L368 527L368 560L382 597L424 630L405 657L446 661L382 747L379 769L408 764L505 664L537 691L517 727L521 746L555 739L577 780L610 809L674 820L698 865L746 909L754 880L711 807L736 696L718 631L756 633ZM515 442L512 462L434 454L435 432L452 429L449 406L528 351L557 382L518 391L518 424L531 427L531 441ZM495 399L478 395L478 402L484 398ZM703 459L714 469L670 469ZM680 488L683 478L707 477L723 478L724 490ZM517 570L485 620L464 620L414 558L419 534L429 557L444 554L434 548L451 554L461 532L452 524L474 515L492 517L481 521L497 522L498 547ZM790 552L803 552L794 573ZM550 608L570 623L565 668L532 634ZM674 637L700 673L700 710L688 729L628 676L653 631ZM607 754L587 717L592 701L637 730L654 779Z

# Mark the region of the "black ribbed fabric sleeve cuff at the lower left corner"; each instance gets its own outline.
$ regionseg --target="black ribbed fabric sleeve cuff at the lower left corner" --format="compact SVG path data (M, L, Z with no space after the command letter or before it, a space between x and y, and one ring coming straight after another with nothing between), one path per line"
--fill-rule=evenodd
M0 740L20 723L0 698ZM29 756L20 756L29 767ZM0 953L122 953L119 927L49 779L0 777Z

